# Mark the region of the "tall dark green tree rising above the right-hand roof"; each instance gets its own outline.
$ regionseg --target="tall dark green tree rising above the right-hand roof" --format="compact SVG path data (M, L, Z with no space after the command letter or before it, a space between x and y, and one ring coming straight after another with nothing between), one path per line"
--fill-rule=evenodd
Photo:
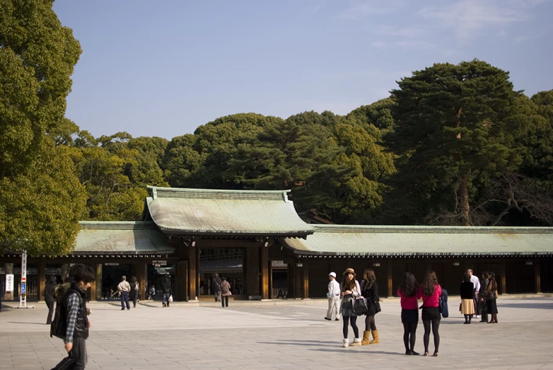
M475 224L471 198L479 183L520 164L513 146L520 93L508 72L479 60L434 64L398 85L394 132L386 137L400 156L391 197L403 216L395 221L446 212L453 215L447 224Z

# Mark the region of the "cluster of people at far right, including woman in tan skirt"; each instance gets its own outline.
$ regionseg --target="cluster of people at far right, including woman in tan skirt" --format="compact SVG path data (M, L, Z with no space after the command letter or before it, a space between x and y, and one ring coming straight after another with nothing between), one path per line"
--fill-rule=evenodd
M480 282L472 270L467 270L462 277L460 291L460 311L465 316L465 324L472 323L472 317L478 318L478 315L482 315L481 323L497 323L497 282L494 272L482 272Z

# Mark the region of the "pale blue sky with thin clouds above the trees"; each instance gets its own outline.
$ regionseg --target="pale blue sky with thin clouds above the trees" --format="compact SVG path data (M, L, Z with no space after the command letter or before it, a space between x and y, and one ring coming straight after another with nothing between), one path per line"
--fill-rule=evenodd
M553 0L57 0L83 54L66 116L171 139L238 112L337 114L437 62L481 59L553 89Z

